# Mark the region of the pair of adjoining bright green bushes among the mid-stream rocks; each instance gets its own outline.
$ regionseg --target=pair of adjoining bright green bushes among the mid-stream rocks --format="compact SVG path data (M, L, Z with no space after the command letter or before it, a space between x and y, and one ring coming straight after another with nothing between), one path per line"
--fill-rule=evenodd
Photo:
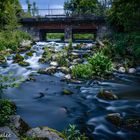
M94 77L105 77L112 73L113 63L102 52L94 54L88 59L89 64L78 64L72 69L75 78L91 79Z

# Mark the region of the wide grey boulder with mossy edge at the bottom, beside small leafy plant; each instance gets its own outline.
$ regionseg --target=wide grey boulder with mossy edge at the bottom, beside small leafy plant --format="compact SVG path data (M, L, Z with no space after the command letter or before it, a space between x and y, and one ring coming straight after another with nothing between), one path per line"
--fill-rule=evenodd
M41 138L46 140L66 140L60 132L48 127L32 128L26 133L26 136L30 138Z

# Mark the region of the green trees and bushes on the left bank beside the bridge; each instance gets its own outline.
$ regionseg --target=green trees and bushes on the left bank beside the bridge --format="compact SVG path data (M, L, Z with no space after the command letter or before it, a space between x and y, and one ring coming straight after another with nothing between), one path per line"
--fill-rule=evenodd
M22 40L30 39L27 33L18 30L22 13L18 0L0 1L0 51L8 48L16 50Z

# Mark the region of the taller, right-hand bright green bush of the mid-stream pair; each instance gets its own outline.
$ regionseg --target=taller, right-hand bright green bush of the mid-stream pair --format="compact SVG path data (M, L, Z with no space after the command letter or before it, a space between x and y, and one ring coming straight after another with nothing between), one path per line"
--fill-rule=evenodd
M88 61L92 65L93 76L104 77L113 71L113 63L102 52L94 54Z

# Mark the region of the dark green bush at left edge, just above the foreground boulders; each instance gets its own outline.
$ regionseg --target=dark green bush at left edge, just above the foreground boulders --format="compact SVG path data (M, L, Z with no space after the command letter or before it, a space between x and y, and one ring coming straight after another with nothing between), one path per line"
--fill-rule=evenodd
M16 106L9 100L0 99L0 126L9 122L11 115L16 112Z

